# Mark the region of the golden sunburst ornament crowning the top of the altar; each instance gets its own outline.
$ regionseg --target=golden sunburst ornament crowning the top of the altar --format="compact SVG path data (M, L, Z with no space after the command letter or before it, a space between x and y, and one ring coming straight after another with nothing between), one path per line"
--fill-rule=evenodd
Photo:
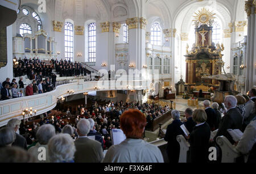
M213 13L213 11L203 8L195 13L195 16L193 16L195 19L193 21L199 21L202 24L209 24L209 20L215 18L214 15L216 14Z

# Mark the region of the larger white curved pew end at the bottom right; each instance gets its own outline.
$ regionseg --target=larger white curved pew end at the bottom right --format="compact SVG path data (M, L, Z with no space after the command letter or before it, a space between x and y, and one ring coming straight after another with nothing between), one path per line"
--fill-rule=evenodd
M240 152L236 150L236 147L225 136L218 136L216 142L221 147L221 163L236 163L236 158L241 156Z

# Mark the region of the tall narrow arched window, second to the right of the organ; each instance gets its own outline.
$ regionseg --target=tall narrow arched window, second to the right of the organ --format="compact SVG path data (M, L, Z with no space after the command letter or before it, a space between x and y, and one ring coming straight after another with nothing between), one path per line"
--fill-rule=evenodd
M96 62L96 23L89 24L88 32L88 60Z

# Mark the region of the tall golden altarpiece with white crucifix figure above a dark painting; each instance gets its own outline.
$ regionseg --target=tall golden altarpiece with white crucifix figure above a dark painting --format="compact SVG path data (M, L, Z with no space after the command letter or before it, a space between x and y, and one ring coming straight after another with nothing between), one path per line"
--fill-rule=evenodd
M221 51L224 51L223 44L212 42L213 34L213 15L203 13L202 10L198 19L195 20L196 42L189 51L187 45L186 59L186 78L185 90L187 92L208 92L209 89L218 88L217 80L205 79L202 77L221 74L221 68L217 67L217 61L222 58Z

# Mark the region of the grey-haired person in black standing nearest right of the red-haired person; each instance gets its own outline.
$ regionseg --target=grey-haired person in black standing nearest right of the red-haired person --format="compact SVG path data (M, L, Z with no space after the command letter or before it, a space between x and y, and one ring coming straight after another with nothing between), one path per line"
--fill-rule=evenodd
M177 142L177 135L184 135L183 130L180 126L183 123L180 121L180 112L177 110L172 110L172 119L174 121L167 127L166 135L164 140L167 143L167 154L170 163L178 163L180 155L180 144Z

